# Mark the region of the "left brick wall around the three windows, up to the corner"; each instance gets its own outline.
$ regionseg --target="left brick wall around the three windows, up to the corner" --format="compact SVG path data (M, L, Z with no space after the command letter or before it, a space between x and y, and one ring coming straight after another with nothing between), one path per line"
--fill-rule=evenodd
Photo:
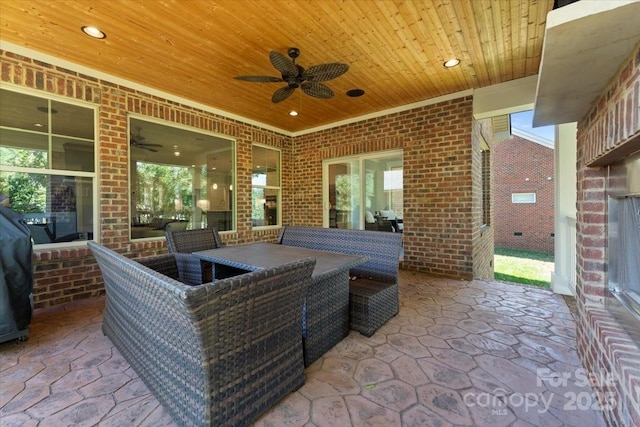
M101 243L126 256L143 257L166 252L164 240L129 240L128 131L127 114L137 113L168 122L229 135L236 140L237 155L237 232L225 233L230 244L255 240L274 241L279 230L251 230L251 144L261 143L282 149L283 159L291 159L292 139L173 101L158 98L109 81L82 75L0 51L1 81L41 91L43 96L88 101L98 112L98 194ZM291 182L288 168L283 181ZM289 211L290 186L283 187L284 210ZM35 251L35 307L47 307L104 292L102 276L86 247Z

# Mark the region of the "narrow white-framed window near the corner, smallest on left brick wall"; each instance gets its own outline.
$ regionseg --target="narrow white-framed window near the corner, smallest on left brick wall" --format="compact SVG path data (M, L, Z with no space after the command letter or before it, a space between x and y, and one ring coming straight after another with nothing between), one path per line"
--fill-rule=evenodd
M254 227L280 225L280 151L254 145L252 156L251 223Z

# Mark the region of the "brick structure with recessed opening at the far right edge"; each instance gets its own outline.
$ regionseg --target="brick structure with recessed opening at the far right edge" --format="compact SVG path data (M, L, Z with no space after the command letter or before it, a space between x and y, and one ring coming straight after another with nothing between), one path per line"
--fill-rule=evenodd
M577 345L588 371L610 375L616 407L612 426L640 425L640 350L604 310L606 292L607 168L640 149L640 45L578 123Z

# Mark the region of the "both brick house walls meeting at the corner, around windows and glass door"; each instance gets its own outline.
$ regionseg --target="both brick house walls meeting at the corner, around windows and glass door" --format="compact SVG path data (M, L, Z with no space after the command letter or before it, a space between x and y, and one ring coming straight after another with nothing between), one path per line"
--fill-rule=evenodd
M127 114L136 113L235 139L237 231L228 244L275 241L279 230L251 229L251 144L282 149L283 224L322 224L322 160L365 152L404 150L405 252L403 267L471 279L474 264L489 265L474 215L472 99L441 102L364 120L295 139L143 93L110 81L0 51L1 81L62 98L98 105L100 241L130 257L166 251L164 240L129 240ZM483 235L486 236L486 233ZM100 272L86 247L37 250L37 308L104 292ZM486 270L486 267L484 268ZM483 271L484 271L483 270Z

